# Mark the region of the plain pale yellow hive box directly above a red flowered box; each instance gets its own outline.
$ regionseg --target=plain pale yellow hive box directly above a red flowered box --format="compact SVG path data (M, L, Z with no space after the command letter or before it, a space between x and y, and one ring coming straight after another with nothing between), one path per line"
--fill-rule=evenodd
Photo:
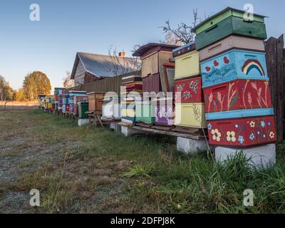
M199 52L190 51L175 58L175 79L198 76L200 73Z

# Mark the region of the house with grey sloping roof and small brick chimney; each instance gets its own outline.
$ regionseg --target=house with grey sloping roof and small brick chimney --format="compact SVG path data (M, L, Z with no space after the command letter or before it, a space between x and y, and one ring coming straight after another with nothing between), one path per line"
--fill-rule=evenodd
M71 79L74 80L75 86L80 86L102 78L113 78L138 71L139 68L140 60L125 57L125 52L120 52L118 56L78 52Z

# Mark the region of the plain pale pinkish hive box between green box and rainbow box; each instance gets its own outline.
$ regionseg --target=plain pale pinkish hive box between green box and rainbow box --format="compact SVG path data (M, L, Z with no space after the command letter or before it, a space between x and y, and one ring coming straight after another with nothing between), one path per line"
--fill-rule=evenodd
M246 36L231 35L199 50L199 59L200 61L206 61L209 58L213 58L232 49L264 52L265 46L262 40Z

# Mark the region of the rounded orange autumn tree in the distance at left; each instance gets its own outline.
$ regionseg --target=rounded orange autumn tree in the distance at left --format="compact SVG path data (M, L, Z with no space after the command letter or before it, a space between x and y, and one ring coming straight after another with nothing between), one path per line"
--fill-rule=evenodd
M38 94L50 94L51 82L45 73L33 71L29 73L23 82L24 98L27 100L36 100Z

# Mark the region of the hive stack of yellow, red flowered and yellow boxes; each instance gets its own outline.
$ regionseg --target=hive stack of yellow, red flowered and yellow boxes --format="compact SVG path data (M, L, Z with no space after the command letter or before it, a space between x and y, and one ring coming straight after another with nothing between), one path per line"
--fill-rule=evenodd
M207 128L199 52L195 43L173 51L175 57L175 130L199 133Z

